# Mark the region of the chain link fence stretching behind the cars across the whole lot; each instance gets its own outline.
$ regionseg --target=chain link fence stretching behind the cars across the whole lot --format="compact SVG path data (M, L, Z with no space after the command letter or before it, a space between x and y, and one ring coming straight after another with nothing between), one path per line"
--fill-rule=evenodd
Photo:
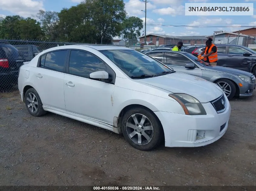
M157 41L147 42L144 44L139 41L128 41L123 40L113 40L112 46L123 46L138 51L143 51L147 49L155 49L161 46L166 46L172 48L175 46L178 41L183 41L184 46L202 46L205 45L205 39L173 39L166 40L164 39L155 39L162 41L163 44L160 45ZM256 35L254 36L243 36L243 35L223 35L223 36L214 36L214 44L238 44L247 46L251 49L256 49ZM1 40L0 39L0 92L14 91L18 88L18 72L20 66L23 62L31 61L38 53L56 46L65 46L72 44L86 44L91 45L91 43L72 43L72 42L42 42L36 40ZM101 44L98 44L101 45ZM105 44L102 44L105 45ZM109 45L109 44L108 44ZM184 47L183 47L184 48ZM191 47L193 49L193 47ZM185 51L185 50L184 50ZM187 51L186 51L187 52Z

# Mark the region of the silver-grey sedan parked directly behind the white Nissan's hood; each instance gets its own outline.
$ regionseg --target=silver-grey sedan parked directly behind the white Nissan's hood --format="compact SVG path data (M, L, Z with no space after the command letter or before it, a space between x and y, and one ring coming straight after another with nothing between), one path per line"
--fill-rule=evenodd
M251 96L255 89L255 76L249 72L209 65L190 53L177 51L150 51L146 53L152 58L173 68L218 84L228 99L234 96Z

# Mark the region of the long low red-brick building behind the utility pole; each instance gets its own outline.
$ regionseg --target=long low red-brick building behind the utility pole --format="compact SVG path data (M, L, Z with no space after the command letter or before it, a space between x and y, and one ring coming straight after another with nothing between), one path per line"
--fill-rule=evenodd
M140 43L143 44L145 36L139 37ZM165 44L174 44L176 45L179 41L182 41L185 46L189 45L204 45L207 38L205 36L169 36L161 34L148 34L146 35L148 43L153 43L155 46L161 46Z

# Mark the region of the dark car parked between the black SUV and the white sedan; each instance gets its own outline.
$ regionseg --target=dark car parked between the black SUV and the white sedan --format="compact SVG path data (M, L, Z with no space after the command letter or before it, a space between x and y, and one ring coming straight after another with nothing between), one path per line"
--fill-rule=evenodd
M14 45L20 54L23 55L25 62L31 61L38 53L41 51L39 50L38 46L35 45Z

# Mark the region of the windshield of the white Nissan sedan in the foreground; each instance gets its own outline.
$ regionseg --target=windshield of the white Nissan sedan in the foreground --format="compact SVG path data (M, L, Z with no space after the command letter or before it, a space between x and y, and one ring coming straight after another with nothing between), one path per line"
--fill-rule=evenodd
M101 50L100 52L130 78L148 78L175 72L136 50Z

